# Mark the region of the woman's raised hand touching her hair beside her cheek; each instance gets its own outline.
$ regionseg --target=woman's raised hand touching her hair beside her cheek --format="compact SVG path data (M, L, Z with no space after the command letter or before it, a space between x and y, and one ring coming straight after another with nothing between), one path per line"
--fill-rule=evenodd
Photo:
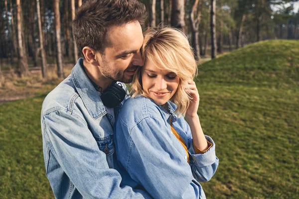
M197 109L199 105L199 94L194 81L188 82L186 93L192 97L192 100L187 108L185 117L186 119L191 119L197 117Z

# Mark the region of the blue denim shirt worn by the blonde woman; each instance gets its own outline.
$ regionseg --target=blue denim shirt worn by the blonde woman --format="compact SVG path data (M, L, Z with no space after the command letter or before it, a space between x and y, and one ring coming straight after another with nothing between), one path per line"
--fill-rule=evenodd
M205 136L213 146L195 154L188 123L173 113L175 105L170 101L166 109L142 96L125 101L114 129L122 185L145 189L154 199L205 199L198 182L209 181L216 172L215 143ZM172 134L170 118L187 145L189 164L185 149Z

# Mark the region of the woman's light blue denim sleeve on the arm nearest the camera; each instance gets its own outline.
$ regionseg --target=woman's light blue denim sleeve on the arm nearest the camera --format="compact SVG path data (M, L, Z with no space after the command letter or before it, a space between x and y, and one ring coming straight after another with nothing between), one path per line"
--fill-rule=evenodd
M116 123L117 156L130 177L154 199L198 199L202 189L189 164L173 146L170 129L157 118L133 127L120 117Z

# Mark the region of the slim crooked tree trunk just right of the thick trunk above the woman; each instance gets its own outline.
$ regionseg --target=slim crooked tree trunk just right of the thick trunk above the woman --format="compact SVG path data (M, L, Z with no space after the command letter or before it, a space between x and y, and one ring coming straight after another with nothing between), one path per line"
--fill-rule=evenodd
M199 3L199 1L200 1L200 3ZM200 59L198 29L199 29L201 11L200 11L200 9L198 9L198 4L201 4L201 0L195 0L194 1L193 5L192 5L192 8L191 8L190 15L189 15L191 31L192 31L192 47L194 49L194 53L195 53L194 56L195 56L196 61L199 61L199 59ZM201 5L200 5L200 7L201 7ZM195 18L194 14L196 12L197 12L197 17Z

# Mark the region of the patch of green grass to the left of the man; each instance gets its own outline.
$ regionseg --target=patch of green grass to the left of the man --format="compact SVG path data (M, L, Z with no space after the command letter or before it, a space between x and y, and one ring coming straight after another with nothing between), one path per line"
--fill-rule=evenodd
M45 96L0 105L0 198L54 198L42 154L40 110Z

